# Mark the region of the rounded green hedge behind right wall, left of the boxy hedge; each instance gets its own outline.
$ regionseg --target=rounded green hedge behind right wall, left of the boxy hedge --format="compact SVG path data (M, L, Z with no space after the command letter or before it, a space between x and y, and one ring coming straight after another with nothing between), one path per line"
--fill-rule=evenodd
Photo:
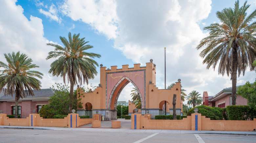
M187 116L191 116L192 113L195 113L194 109L198 108L198 113L201 113L202 116L210 118L211 120L223 120L223 109L219 107L209 107L205 105L200 105L188 110Z

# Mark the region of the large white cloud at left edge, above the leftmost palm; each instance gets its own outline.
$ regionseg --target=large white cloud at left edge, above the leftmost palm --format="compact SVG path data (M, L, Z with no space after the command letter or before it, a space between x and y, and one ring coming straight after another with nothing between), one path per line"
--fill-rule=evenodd
M34 64L39 66L33 70L44 74L42 88L49 88L55 82L61 83L61 77L51 77L48 74L53 60L46 60L52 47L46 43L51 42L44 37L43 24L40 18L30 16L27 19L23 14L23 8L15 5L16 0L0 1L0 61L6 63L4 53L18 52L32 58Z

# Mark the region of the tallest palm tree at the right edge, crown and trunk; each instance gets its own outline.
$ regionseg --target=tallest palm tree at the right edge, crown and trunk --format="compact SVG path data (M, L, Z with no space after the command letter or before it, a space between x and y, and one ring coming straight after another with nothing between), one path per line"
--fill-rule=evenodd
M213 23L204 27L209 31L209 36L203 38L197 49L201 49L200 56L204 58L203 63L207 64L207 69L211 66L215 69L219 63L219 74L231 74L232 80L232 105L236 104L236 81L246 67L250 71L255 69L252 65L256 57L256 9L247 16L246 10L250 5L239 8L239 1L235 2L234 8L225 8L217 11L216 15L221 23Z

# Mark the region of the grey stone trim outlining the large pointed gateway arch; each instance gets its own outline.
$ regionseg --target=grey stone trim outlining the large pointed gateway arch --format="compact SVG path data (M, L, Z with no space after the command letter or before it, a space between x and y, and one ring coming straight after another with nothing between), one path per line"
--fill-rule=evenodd
M112 103L113 94L115 93L117 87L120 86L120 84L122 83L122 81L124 81L125 79L127 80L127 82L122 85L122 87L119 89L119 91L118 91L118 93L117 93L117 96L116 96L116 99L115 99L115 106L114 106L114 109L117 108L117 107L116 107L116 103L117 103L117 99L118 99L118 97L119 97L121 91L122 91L123 88L124 88L128 83L130 83L130 82L133 84L133 86L136 88L136 90L137 90L138 93L139 93L139 97L140 97L140 100L141 100L141 108L145 108L145 107L144 107L144 105L145 105L145 104L144 104L145 99L142 97L139 88L136 86L136 84L135 84L130 78L124 76L124 77L122 77L122 78L117 82L117 84L116 84L115 87L113 88L113 90L112 90L112 92L111 92L111 94L110 94L109 101L108 101L107 109L111 109L111 103Z

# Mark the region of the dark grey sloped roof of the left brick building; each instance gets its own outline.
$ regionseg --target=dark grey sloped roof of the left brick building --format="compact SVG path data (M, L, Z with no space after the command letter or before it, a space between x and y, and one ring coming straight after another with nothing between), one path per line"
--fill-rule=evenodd
M53 96L54 91L51 88L46 88L46 89L41 89L41 90L33 90L34 92L34 96L27 96L27 98L38 98L38 97L43 97L43 98L50 98L51 96ZM25 99L25 98L23 98ZM3 91L0 92L0 100L15 100L15 94L11 95L7 95L5 96Z

